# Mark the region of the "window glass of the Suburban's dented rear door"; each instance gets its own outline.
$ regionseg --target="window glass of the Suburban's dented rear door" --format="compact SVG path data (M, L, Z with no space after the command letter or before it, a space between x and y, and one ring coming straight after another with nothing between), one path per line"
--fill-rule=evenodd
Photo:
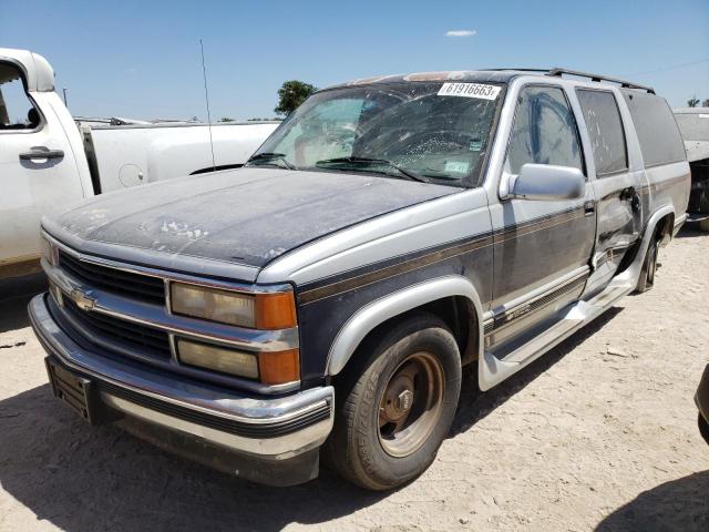
M625 132L616 96L612 92L578 89L596 163L596 175L609 175L628 168Z

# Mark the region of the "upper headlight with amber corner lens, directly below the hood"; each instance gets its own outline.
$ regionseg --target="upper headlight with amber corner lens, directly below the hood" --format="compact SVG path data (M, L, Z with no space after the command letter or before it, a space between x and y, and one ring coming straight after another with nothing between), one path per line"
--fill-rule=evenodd
M256 329L287 329L296 326L291 291L242 294L186 283L169 284L174 314Z

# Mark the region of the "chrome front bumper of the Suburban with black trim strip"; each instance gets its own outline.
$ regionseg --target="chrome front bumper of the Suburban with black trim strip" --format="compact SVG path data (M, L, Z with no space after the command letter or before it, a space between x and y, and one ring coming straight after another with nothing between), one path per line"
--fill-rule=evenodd
M122 415L119 424L160 447L259 482L292 484L317 475L317 450L332 429L332 387L276 398L240 395L110 358L62 330L47 297L35 296L29 305L40 342L61 366L95 382L101 402ZM229 454L234 460L227 460ZM251 462L256 468L244 467Z

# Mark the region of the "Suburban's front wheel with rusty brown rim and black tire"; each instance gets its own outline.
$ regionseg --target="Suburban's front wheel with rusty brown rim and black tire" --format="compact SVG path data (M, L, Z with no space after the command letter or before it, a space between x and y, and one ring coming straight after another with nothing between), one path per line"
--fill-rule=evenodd
M461 387L455 338L419 315L373 339L371 355L336 385L326 462L349 481L388 490L421 474L453 421Z

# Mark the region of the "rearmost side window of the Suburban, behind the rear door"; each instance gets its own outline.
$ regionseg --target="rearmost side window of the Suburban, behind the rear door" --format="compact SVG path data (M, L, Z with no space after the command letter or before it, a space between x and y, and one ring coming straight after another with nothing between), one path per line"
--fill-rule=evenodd
M667 102L639 91L623 91L640 141L645 167L685 161L685 144Z

